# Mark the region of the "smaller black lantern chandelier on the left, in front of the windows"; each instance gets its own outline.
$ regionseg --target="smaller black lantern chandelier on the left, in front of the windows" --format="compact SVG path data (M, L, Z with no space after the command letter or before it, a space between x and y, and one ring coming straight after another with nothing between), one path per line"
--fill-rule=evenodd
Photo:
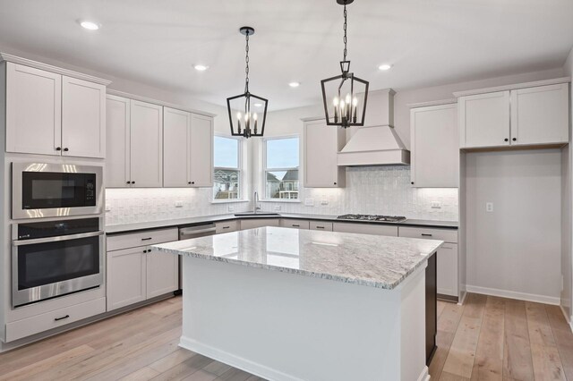
M265 131L265 121L267 120L267 104L269 101L263 97L258 97L249 92L249 36L254 34L251 27L243 27L239 30L245 36L245 58L244 72L244 94L227 97L227 109L229 112L229 123L231 124L231 135L250 138L252 136L262 136ZM262 121L262 123L261 123Z

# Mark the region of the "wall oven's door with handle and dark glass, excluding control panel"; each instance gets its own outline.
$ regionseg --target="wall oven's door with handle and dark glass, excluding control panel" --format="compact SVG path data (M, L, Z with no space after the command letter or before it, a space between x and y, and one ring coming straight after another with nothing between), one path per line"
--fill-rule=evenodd
M13 241L12 305L103 284L104 232Z

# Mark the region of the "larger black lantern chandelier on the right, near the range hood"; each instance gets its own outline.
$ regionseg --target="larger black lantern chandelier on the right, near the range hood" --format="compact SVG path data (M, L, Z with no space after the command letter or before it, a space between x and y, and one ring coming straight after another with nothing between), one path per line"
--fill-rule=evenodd
M340 62L342 74L321 80L326 123L344 128L364 125L368 99L368 81L350 72L350 61L346 60L346 4L353 2L337 0L338 4L344 5L344 59Z

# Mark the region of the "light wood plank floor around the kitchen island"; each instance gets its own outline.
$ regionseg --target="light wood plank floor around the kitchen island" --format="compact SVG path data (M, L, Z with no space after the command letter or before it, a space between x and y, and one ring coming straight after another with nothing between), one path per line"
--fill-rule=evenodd
M471 294L438 314L434 380L573 381L559 307ZM179 297L0 354L0 380L261 380L178 348L180 334Z

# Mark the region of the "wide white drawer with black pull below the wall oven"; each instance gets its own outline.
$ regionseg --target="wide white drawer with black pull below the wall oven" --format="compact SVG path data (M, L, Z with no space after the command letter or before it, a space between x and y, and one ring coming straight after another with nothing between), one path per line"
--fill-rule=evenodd
M6 324L6 343L49 329L65 326L84 318L106 312L106 298L86 301L65 309L56 309L31 318L24 318Z

